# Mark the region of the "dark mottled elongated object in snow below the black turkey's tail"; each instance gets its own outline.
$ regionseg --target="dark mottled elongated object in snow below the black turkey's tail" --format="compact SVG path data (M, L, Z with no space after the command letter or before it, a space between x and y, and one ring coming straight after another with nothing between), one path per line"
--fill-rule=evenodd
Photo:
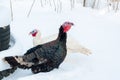
M17 69L17 67L13 67L13 68L10 68L10 69L0 71L0 80L2 80L4 77L7 77L10 74L14 73L16 69Z

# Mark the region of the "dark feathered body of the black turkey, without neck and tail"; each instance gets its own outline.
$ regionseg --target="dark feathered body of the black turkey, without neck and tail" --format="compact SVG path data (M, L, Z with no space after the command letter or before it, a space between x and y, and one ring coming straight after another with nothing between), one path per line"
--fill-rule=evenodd
M55 40L29 50L25 54L27 56L23 56L23 60L34 63L31 67L33 73L48 72L54 68L58 68L64 61L66 54L65 42Z

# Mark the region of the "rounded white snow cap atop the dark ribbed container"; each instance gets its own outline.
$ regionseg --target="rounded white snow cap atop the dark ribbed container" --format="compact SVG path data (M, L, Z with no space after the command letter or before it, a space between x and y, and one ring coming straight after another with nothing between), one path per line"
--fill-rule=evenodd
M10 9L4 5L0 5L0 27L4 27L11 22L11 12Z

